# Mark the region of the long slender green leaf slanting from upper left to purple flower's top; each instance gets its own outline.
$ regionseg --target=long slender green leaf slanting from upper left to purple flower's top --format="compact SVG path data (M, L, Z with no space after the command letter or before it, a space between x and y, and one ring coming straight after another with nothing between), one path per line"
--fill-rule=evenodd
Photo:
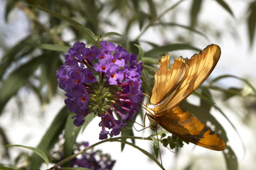
M97 45L95 34L92 33L92 31L89 30L88 28L86 28L85 26L82 26L80 23L73 20L72 18L69 18L68 16L63 16L62 14L56 13L54 11L50 11L46 8L41 7L41 6L34 6L32 4L28 4L28 5L33 6L34 8L38 8L41 11L45 11L46 13L49 13L51 16L55 16L57 18L60 18L61 20L67 21L68 23L70 23L71 26L78 29L80 32L85 33L85 35L87 35L86 39L89 40L93 45Z

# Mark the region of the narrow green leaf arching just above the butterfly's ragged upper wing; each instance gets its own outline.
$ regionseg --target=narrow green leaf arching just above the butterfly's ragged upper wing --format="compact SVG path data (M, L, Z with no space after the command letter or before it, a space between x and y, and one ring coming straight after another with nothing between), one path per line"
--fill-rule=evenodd
M166 54L166 52L171 52L175 50L195 50L200 51L201 49L193 47L188 44L169 44L160 47L155 47L153 50L144 53L144 56L159 58L160 55Z

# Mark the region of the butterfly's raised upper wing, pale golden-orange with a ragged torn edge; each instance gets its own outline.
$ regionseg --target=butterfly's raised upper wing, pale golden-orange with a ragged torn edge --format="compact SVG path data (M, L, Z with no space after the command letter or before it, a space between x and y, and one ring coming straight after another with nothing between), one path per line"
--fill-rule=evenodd
M168 68L169 55L161 58L161 66L156 69L155 84L151 103L155 104L157 116L171 111L185 100L213 71L220 58L220 47L208 45L203 52L191 59L179 57Z

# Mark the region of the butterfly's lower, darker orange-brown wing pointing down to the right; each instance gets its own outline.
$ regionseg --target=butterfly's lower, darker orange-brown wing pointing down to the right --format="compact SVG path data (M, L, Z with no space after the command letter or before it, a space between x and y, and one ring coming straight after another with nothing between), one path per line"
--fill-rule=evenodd
M161 127L193 144L217 151L226 147L215 132L180 105L157 119Z

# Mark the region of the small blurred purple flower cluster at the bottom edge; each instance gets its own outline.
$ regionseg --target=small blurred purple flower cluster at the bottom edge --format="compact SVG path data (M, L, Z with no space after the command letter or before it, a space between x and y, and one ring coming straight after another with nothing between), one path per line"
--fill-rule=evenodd
M89 146L88 142L82 142L77 144L78 151L85 149ZM78 156L79 157L79 156ZM80 158L75 157L69 162L70 167L82 167L95 170L110 170L113 168L115 161L111 159L109 154L102 154L100 150L96 152L84 152L80 155Z

